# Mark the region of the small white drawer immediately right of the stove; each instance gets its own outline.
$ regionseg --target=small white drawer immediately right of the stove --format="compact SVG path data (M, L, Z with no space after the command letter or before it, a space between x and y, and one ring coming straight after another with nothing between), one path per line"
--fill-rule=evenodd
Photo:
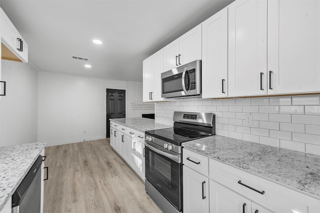
M195 152L183 149L182 150L182 163L183 165L193 169L194 171L208 176L208 164L209 159L203 155L197 154Z

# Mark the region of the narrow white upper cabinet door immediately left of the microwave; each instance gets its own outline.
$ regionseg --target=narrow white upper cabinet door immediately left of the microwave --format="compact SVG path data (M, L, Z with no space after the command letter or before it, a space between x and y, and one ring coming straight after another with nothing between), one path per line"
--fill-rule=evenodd
M153 70L153 84L152 84L152 100L163 101L161 98L161 73L163 72L163 49L160 49L152 55L152 70Z

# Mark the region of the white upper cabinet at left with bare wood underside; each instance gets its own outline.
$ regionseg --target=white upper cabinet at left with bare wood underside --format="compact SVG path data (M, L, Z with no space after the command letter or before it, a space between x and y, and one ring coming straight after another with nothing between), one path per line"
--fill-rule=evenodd
M22 38L18 30L14 27L8 16L1 8L1 42L6 46L3 47L2 59L28 62L28 45ZM7 49L8 50L7 50ZM5 54L4 54L5 53ZM13 54L14 55L13 55Z

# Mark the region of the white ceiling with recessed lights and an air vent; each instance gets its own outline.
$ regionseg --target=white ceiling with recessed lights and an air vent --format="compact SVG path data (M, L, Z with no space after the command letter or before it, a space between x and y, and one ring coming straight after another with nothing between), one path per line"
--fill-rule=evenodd
M0 6L37 70L141 82L143 59L232 1L0 0ZM89 58L92 67L73 55Z

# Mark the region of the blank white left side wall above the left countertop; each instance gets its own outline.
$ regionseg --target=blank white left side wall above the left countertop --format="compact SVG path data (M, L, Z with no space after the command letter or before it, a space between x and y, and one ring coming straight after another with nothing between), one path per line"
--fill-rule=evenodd
M0 146L37 142L37 71L28 63L1 62Z

